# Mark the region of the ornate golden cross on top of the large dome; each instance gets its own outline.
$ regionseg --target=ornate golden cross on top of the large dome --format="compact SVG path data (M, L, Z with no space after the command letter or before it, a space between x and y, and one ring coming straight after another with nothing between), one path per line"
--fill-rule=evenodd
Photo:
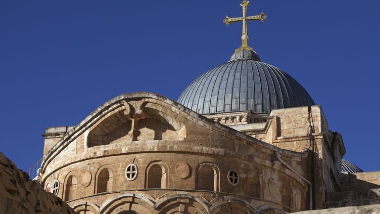
M250 5L250 2L247 0L244 0L243 2L240 3L240 6L243 7L243 17L229 18L228 16L226 16L226 18L223 19L223 22L227 26L229 25L229 23L232 23L232 22L241 22L241 21L243 22L242 47L240 47L237 50L249 49L252 51L252 48L248 46L249 37L247 33L247 21L260 20L264 22L264 20L266 19L266 15L264 14L264 12L261 12L260 15L256 15L256 16L247 16L247 7L249 5Z

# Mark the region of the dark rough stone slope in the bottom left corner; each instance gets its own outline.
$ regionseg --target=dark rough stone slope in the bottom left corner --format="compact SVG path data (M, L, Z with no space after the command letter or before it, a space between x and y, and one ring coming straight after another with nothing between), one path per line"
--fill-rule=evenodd
M76 213L0 152L0 213Z

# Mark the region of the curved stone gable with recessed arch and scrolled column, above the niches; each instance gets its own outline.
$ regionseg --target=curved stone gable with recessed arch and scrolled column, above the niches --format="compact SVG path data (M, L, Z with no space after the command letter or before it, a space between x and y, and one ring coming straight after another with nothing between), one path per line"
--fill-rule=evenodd
M192 125L186 127L186 124ZM214 133L214 138L210 137L210 133ZM215 138L215 135L219 137ZM143 141L146 141L148 146L154 145L154 147L150 147L154 151L160 148L175 150L176 147L182 145L179 142L185 139L189 142L189 145L186 145L188 151L198 151L203 148L192 142L213 144L212 147L215 149L205 150L206 153L216 152L219 154L223 150L219 149L221 145L227 150L236 150L236 145L225 143L227 139L237 140L247 145L255 144L269 150L279 150L275 146L210 120L168 98L153 93L131 93L115 97L89 114L46 153L41 168L45 173L47 165L56 157L62 158L64 164L70 164L107 156L111 153L146 152L148 150L141 150L139 147L142 145L140 142ZM162 147L160 146L161 141L176 146ZM174 143L174 141L176 142ZM106 146L107 149L91 150L91 147L101 145ZM297 152L284 152L300 155ZM55 164L55 161L52 163ZM52 168L60 167L62 167L62 163ZM52 172L48 172L48 174L50 173Z

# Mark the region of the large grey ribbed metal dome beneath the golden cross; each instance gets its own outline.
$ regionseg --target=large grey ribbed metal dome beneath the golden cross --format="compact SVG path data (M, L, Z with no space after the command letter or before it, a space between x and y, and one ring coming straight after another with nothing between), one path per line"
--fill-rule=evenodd
M195 79L178 98L200 114L314 105L306 90L289 74L253 59L235 59Z

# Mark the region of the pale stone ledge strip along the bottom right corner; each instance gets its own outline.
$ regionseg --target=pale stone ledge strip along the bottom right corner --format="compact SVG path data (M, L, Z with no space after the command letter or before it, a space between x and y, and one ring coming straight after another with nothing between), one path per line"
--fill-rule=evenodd
M318 209L294 212L297 214L378 214L380 213L380 204L366 206L346 206L340 208Z

